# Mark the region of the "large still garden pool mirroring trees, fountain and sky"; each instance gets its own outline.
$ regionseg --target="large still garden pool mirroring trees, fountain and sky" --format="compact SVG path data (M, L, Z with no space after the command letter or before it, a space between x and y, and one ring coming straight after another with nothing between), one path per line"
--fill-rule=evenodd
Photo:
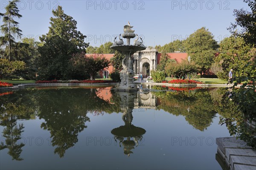
M230 136L219 125L223 93L155 86L1 94L0 169L222 170L215 139Z

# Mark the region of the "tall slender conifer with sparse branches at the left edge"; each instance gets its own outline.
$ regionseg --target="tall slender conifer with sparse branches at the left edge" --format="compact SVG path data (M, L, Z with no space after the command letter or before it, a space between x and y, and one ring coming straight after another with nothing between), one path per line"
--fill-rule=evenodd
M1 32L4 36L0 37L0 46L5 46L9 57L9 60L12 60L12 47L15 45L15 37L17 35L20 37L21 30L18 27L18 22L14 20L15 17L20 18L22 15L19 14L19 9L17 7L17 3L20 0L12 0L9 1L9 4L5 7L6 13L1 14L3 16L3 25L1 26ZM7 48L8 46L8 48Z

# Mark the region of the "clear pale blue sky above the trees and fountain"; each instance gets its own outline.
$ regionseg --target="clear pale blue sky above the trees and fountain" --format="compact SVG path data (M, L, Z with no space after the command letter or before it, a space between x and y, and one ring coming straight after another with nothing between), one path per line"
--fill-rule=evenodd
M0 0L1 12L7 2ZM39 41L49 31L52 8L57 5L77 21L78 30L92 46L113 41L128 21L146 46L184 40L201 27L220 41L230 35L227 27L235 21L233 10L250 10L243 0L22 0L18 6L23 17L18 22L23 36Z

